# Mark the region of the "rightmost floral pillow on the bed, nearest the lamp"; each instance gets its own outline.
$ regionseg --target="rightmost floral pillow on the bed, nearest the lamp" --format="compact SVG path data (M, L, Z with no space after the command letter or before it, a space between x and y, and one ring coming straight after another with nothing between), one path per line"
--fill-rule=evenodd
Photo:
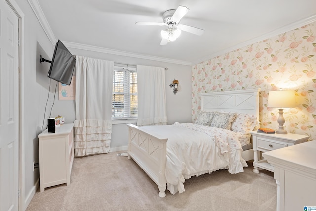
M257 124L257 117L255 115L238 113L235 120L232 122L231 130L248 134Z

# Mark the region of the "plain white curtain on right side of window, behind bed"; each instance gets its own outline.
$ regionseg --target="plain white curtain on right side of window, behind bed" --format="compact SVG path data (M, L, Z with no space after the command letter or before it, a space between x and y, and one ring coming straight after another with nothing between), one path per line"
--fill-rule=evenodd
M138 126L166 125L165 70L137 65Z

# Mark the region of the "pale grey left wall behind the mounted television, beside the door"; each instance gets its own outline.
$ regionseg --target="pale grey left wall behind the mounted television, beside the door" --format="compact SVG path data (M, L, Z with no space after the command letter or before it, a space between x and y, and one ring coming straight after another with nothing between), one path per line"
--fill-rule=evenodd
M23 12L24 25L22 29L21 45L23 46L24 60L20 73L21 84L20 103L22 108L20 133L23 157L21 158L22 187L20 190L20 199L22 200L22 210L25 210L29 201L32 199L36 184L39 179L39 169L33 171L33 162L39 162L39 147L37 136L41 133L42 121L44 117L44 108L49 92L49 79L47 77L49 66L40 64L40 54L44 57L52 55L52 44L47 38L45 32L30 5L26 0L14 0L14 3ZM21 29L20 29L21 30ZM56 83L52 83L54 85ZM50 89L50 94L52 94ZM51 98L48 104L51 105ZM46 115L47 117L47 115Z

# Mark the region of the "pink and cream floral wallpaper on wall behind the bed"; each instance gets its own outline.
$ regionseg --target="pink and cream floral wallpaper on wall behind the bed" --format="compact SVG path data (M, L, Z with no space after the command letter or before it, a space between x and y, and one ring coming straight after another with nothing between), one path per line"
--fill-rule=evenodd
M296 108L284 109L289 133L316 139L316 22L192 66L192 120L199 93L260 88L260 127L278 128L271 90L295 90Z

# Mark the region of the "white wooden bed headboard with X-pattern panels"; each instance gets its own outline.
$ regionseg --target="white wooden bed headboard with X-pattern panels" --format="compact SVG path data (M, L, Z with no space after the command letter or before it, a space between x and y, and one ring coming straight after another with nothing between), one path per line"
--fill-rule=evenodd
M246 89L202 93L201 110L253 114L259 120L259 92L260 89Z

